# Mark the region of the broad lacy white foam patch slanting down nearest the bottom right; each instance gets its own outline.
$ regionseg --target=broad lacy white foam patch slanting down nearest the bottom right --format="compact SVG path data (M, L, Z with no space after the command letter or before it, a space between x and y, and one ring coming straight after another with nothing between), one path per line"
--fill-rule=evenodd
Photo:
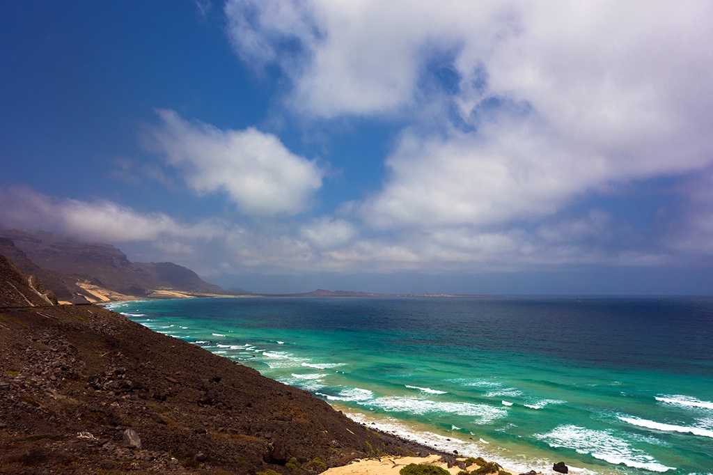
M551 447L566 447L580 454L591 454L595 459L610 464L624 464L632 468L665 472L675 467L660 464L645 451L635 449L627 441L614 436L610 431L586 429L574 425L556 427L546 434L535 434Z

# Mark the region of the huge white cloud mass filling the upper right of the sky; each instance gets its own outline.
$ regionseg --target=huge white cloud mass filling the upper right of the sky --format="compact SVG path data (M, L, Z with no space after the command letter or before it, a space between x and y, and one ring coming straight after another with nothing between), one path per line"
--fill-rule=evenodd
M713 163L710 2L230 0L225 12L237 53L282 68L297 113L411 122L361 204L376 228L538 219Z

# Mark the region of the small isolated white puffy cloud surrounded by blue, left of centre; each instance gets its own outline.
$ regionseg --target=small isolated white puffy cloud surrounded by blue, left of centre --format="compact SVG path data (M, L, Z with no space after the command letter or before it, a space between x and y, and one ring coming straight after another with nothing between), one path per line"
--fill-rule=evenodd
M165 156L196 193L225 193L248 215L294 215L309 208L324 172L279 138L247 128L222 131L159 110L149 146Z

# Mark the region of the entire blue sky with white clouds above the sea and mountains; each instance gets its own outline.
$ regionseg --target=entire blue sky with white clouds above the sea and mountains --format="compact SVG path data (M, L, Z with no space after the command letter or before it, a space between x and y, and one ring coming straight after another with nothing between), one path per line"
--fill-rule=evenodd
M0 2L0 224L222 287L713 294L713 2Z

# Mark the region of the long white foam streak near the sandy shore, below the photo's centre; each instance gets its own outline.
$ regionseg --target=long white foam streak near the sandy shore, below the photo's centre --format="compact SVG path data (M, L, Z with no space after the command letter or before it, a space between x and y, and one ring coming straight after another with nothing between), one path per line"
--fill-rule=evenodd
M379 397L369 401L367 405L387 412L408 412L410 414L445 412L457 414L458 416L474 417L478 424L489 424L508 415L505 409L488 406L487 404L431 401L416 397Z

